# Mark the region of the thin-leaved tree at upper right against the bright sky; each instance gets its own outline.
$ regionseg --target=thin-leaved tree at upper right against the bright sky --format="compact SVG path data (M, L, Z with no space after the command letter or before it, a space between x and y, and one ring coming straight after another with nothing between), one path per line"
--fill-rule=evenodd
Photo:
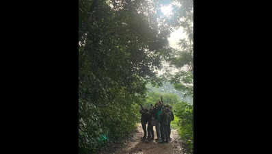
M172 25L182 27L187 38L181 39L178 43L180 49L172 52L167 62L178 69L174 75L167 73L176 90L185 91L187 95L193 96L193 1L178 0L174 3L174 15L172 16ZM178 18L179 20L174 20Z

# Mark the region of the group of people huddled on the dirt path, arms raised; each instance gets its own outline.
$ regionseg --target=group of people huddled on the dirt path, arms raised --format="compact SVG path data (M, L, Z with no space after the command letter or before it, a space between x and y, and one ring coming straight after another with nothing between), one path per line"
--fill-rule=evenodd
M174 120L174 114L172 112L172 106L168 104L165 105L162 97L154 106L151 104L149 109L144 108L141 105L140 113L141 126L144 129L143 140L154 140L154 126L156 127L157 132L157 142L168 143L171 140L170 123ZM147 131L146 124L148 125ZM146 135L148 135L148 138L146 138Z

